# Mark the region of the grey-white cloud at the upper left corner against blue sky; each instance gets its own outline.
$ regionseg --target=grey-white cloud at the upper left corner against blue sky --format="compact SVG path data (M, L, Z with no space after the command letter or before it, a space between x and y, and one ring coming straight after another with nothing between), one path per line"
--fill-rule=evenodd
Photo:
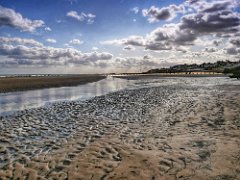
M43 27L44 21L30 20L24 18L20 13L13 9L0 6L0 27L9 26L22 31L34 32L37 28Z

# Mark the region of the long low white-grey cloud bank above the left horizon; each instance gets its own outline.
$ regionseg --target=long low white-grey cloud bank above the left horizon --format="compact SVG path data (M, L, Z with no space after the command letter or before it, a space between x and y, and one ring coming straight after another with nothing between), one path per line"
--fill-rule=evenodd
M108 52L82 53L73 48L37 47L24 45L0 45L0 55L8 61L0 60L2 66L15 65L96 65L97 61L110 60L113 55Z

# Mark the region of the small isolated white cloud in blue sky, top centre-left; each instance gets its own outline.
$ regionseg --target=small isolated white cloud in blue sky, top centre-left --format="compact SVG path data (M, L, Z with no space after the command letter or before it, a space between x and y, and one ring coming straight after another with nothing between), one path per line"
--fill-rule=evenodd
M66 15L81 22L86 21L88 24L94 23L94 19L96 18L96 15L94 14L91 13L86 14L84 12L78 14L76 11L69 11Z

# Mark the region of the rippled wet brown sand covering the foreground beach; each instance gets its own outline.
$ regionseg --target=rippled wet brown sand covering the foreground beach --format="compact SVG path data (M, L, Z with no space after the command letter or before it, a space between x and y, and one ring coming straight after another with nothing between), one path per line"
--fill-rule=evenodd
M0 177L240 179L240 85L181 81L1 117Z

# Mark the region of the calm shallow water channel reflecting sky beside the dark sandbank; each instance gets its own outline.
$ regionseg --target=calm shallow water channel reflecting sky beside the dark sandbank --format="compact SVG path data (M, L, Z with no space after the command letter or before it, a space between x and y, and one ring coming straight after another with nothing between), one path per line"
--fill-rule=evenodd
M132 81L107 77L94 83L73 87L0 93L0 115L40 107L57 101L86 100L133 85Z

